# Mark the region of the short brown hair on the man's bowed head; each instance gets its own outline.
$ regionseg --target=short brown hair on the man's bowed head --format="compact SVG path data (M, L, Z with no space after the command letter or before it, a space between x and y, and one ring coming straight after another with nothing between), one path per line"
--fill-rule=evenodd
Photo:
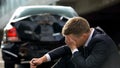
M70 18L62 29L63 35L81 35L90 31L90 25L88 21L83 17L73 17Z

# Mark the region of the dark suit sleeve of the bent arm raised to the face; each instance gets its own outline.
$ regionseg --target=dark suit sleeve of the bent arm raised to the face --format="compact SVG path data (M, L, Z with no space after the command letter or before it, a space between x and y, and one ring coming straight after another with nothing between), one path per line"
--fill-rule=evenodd
M76 68L99 68L108 57L108 50L109 48L104 41L96 43L87 58L83 57L81 53L77 51L72 56L72 62Z

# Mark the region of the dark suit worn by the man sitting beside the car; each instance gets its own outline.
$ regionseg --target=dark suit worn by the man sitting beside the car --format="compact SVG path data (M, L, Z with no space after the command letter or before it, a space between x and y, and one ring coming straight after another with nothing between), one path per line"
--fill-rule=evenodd
M68 46L62 46L49 52L51 59L61 57L53 68L120 68L115 43L98 27L88 46L78 50L72 55Z

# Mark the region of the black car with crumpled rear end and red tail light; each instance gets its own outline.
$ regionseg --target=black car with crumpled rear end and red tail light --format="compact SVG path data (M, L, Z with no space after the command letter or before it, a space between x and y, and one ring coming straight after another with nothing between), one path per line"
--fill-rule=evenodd
M61 30L65 22L78 16L70 6L22 6L4 27L1 42L5 68L26 64L34 57L65 44ZM50 68L55 61L41 65Z

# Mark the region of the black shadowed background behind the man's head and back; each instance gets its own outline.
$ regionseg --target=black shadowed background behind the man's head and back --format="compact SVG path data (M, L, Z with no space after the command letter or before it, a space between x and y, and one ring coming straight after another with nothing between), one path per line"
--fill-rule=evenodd
M85 17L91 27L103 28L117 45L120 44L120 3L80 16Z

